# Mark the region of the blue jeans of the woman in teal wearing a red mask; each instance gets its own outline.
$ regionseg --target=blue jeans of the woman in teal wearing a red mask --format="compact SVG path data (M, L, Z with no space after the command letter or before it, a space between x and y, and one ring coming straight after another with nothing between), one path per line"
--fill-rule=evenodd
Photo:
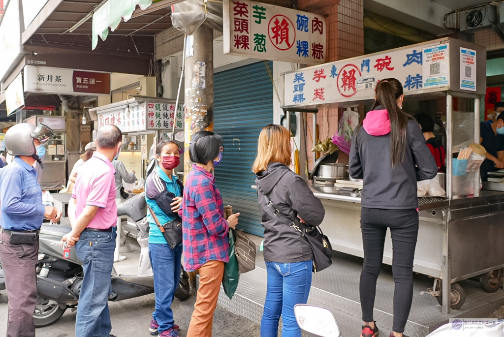
M152 319L159 324L159 333L173 327L175 323L171 303L180 281L181 256L181 245L171 249L167 244L149 243L149 259L154 273L156 295L156 309L152 313Z

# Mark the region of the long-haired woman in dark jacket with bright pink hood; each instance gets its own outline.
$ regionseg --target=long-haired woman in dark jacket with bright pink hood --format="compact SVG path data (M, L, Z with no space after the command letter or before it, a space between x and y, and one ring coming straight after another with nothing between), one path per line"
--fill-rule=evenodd
M378 83L373 108L356 128L350 150L350 176L364 179L360 218L364 248L360 275L362 337L379 334L373 306L387 228L392 236L395 282L390 335L403 337L413 299L413 258L418 236L416 182L437 174L418 122L401 110L403 99L403 86L398 80Z

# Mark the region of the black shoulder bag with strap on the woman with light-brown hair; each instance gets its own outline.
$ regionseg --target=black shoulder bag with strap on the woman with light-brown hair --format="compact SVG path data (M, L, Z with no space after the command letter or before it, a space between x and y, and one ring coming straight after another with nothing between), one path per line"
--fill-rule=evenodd
M289 220L273 206L273 201L270 201L266 195L263 195L263 198L275 217L280 219L287 226L301 233L306 239L313 253L313 273L323 271L333 263L331 260L333 256L333 247L319 226L301 224L297 218L294 221Z

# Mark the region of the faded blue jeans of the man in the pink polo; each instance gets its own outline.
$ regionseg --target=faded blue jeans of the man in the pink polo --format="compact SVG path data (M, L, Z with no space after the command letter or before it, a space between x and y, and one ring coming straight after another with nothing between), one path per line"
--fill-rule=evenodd
M76 337L109 337L112 325L108 312L114 264L115 227L112 232L85 229L75 249L82 261L84 278L77 306Z

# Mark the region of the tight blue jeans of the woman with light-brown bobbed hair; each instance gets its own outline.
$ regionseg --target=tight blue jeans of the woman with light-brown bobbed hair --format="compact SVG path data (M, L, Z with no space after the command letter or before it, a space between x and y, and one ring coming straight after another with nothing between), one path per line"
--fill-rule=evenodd
M312 261L266 262L268 285L261 337L277 337L278 321L282 315L282 337L301 337L294 317L294 305L306 303L311 287Z

